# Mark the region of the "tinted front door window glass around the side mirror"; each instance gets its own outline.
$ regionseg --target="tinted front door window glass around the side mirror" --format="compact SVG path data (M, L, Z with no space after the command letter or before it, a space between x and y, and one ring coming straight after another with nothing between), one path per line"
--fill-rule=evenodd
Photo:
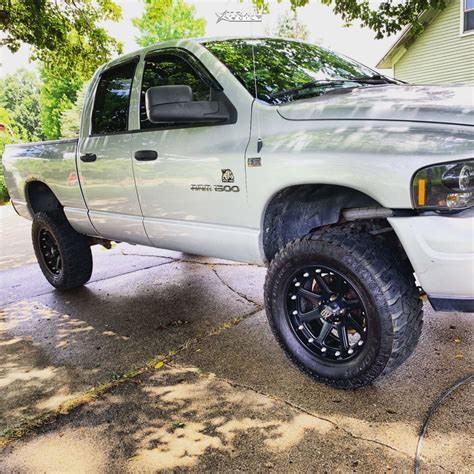
M150 87L185 85L193 90L193 100L210 100L210 87L183 58L173 54L160 54L146 59L140 104L140 127L156 128L146 117L145 94ZM163 124L162 126L166 126Z

